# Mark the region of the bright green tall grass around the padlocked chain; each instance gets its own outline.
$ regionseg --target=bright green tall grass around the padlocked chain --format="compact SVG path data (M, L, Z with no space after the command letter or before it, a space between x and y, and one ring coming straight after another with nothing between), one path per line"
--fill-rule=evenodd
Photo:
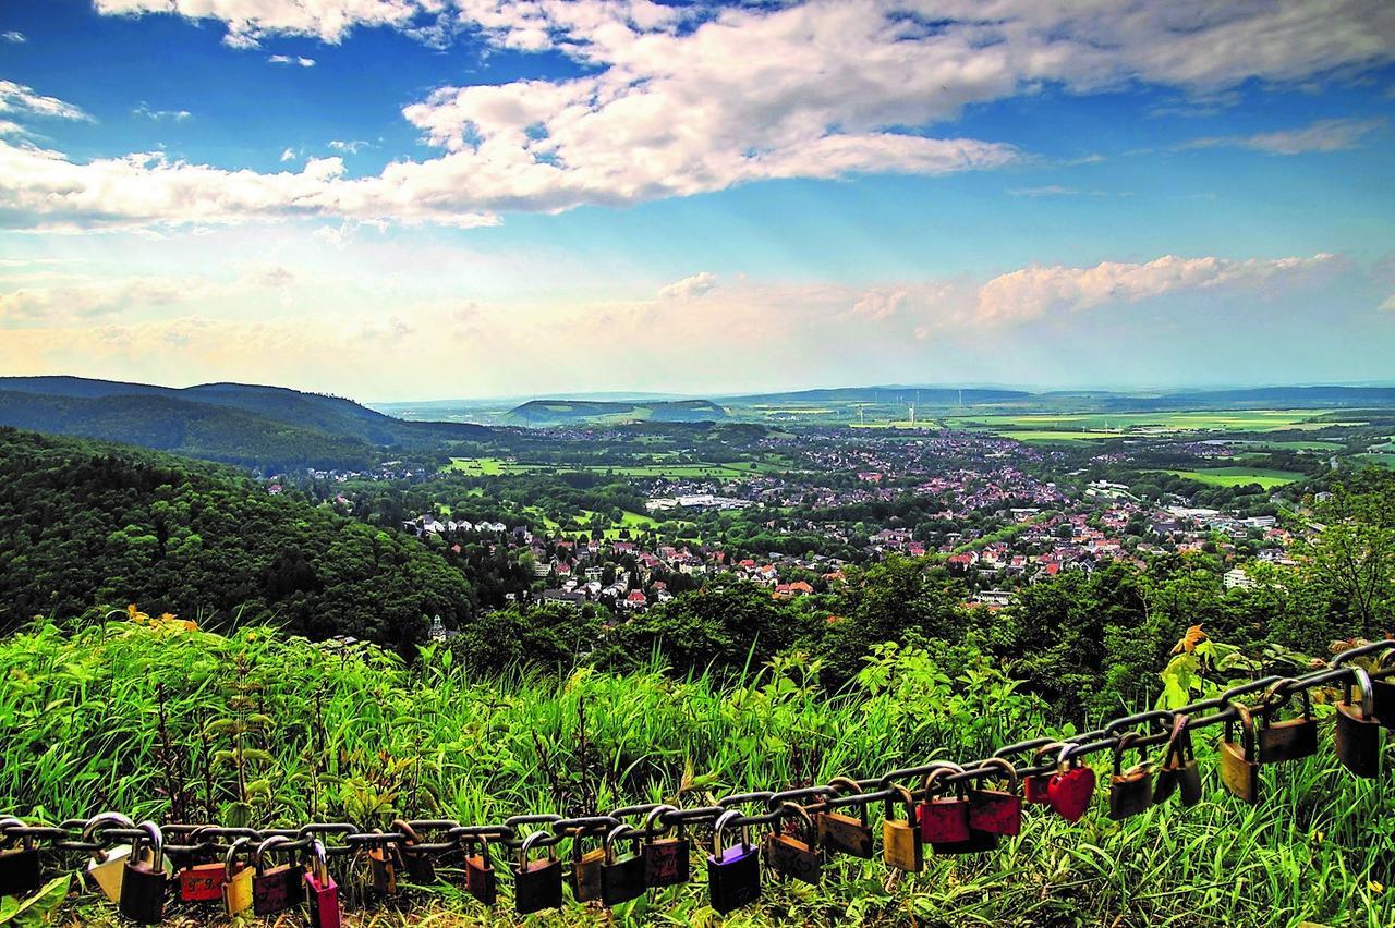
M137 614L36 627L0 642L0 812L49 821L103 808L173 819L172 804L186 821L211 812L227 823L367 826L395 814L481 822L632 801L693 805L1052 734L1041 705L992 667L950 680L917 649L883 649L837 695L822 694L801 659L725 686L674 681L657 662L629 676L470 680L444 651L407 669L368 645L282 640L269 628L222 637ZM1115 823L1101 789L1078 825L1030 808L1023 836L997 853L928 854L917 876L889 879L880 861L840 858L820 888L767 879L762 903L727 922L1392 924L1387 783L1348 776L1324 744L1315 758L1267 768L1267 798L1251 810L1219 789L1209 737L1198 757L1208 796L1191 810ZM349 924L511 920L508 879L491 914L442 875L437 888L370 902ZM360 864L339 878L363 876ZM611 918L718 922L700 867L695 876ZM607 921L568 906L534 921ZM208 910L173 915L213 921ZM60 917L102 921L112 908L82 895Z

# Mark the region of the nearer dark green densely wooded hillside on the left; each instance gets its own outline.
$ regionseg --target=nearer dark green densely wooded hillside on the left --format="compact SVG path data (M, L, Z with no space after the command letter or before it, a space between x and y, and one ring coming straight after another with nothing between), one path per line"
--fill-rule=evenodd
M0 633L131 602L402 649L424 616L473 609L465 575L405 535L216 465L0 428Z

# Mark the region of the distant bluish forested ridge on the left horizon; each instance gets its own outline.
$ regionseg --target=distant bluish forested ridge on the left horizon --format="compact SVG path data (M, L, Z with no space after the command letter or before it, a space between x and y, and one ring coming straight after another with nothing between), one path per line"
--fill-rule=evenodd
M420 449L490 433L460 422L405 422L352 400L285 387L176 390L64 376L0 378L0 425L266 470L361 468L377 447Z

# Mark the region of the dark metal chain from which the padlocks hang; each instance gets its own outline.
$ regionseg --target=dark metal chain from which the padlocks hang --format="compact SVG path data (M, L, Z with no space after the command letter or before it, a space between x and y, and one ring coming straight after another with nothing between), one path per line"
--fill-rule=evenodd
M319 840L329 856L353 856L361 849L385 847L395 844L407 847L413 854L445 856L458 853L474 842L488 840L492 844L504 846L512 851L522 847L523 840L533 837L533 847L554 847L564 840L573 840L573 847L579 847L583 837L605 837L611 842L633 840L638 837L654 837L675 828L689 825L714 825L717 818L734 808L756 805L764 811L735 815L728 821L731 828L749 828L752 825L778 825L781 819L792 817L791 808L802 808L806 812L822 812L848 805L859 807L859 811L873 803L884 803L897 797L904 798L904 791L896 784L900 780L922 780L939 769L951 771L935 779L933 786L926 789L912 786L910 796L912 800L923 800L928 794L937 794L960 783L968 783L985 778L1003 776L1003 759L1036 754L1041 757L1042 748L1050 747L1055 757L1049 762L1036 762L1031 766L1011 766L1018 779L1043 776L1060 769L1071 759L1083 758L1099 751L1112 751L1127 737L1129 750L1147 748L1168 743L1173 722L1177 716L1187 716L1187 729L1201 729L1228 722L1239 720L1240 712L1236 701L1240 697L1262 693L1262 698L1254 705L1261 715L1269 715L1283 708L1295 694L1306 694L1309 690L1329 686L1334 683L1356 683L1366 672L1350 665L1355 658L1395 651L1395 640L1375 641L1367 645L1352 648L1336 655L1325 667L1297 677L1267 676L1236 687L1232 687L1218 697L1201 699L1177 709L1154 709L1136 715L1122 716L1108 722L1103 727L1084 732L1069 738L1034 738L1018 741L999 748L988 758L968 761L965 764L951 764L949 761L930 761L921 766L900 768L883 773L879 778L851 780L859 791L848 791L848 782L844 789L836 786L806 786L784 791L755 791L737 793L717 800L713 805L695 808L678 808L667 803L646 803L639 805L625 805L608 814L582 815L564 818L552 814L515 815L498 825L465 825L455 819L399 819L395 825L406 825L406 830L365 830L353 822L308 822L299 828L232 828L220 825L199 823L169 823L162 830L166 835L181 836L184 843L165 844L165 853L176 861L195 861L201 858L219 860L226 854L237 839L251 839L261 842L266 837L282 836L290 839L289 844L280 847L287 851L307 850L314 840ZM1395 674L1395 667L1384 667L1370 672L1368 680L1382 680ZM1201 715L1209 712L1209 715ZM1158 723L1156 733L1148 733L1147 727ZM802 807L788 805L808 800ZM626 825L626 818L647 818L643 826ZM100 826L88 835L89 819L67 819L59 825L27 825L17 818L0 819L0 844L22 842L47 842L54 851L81 851L96 854L119 843L130 843L145 837L145 832L138 828ZM529 828L534 826L534 828ZM624 826L624 830L615 830ZM410 832L410 833L409 833ZM543 832L543 835L537 835ZM421 835L439 837L435 842L421 840ZM329 840L338 836L338 842ZM197 840L195 840L197 839ZM216 856L216 857L215 857Z

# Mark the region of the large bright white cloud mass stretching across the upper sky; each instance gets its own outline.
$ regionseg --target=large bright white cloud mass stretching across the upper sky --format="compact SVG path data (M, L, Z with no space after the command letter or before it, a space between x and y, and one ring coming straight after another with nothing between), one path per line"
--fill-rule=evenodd
M57 152L6 152L0 159L21 170L0 174L0 222L160 226L312 215L472 226L506 210L629 205L767 178L986 170L1021 153L943 131L965 106L1043 85L1092 93L1137 81L1214 100L1251 78L1296 82L1395 60L1395 4L1380 0L96 6L222 21L237 46L272 35L340 42L360 26L435 29L438 38L473 29L495 47L566 54L587 74L439 88L403 110L439 153L396 160L375 177L349 178L338 159L301 174L257 174L141 155L78 164ZM155 190L151 202L131 192L140 184Z

